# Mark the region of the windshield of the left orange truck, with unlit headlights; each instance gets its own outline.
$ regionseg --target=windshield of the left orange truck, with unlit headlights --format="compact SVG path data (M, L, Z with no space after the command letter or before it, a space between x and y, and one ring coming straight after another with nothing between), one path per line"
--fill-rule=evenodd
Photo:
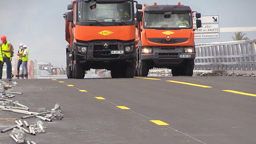
M133 21L133 4L131 1L123 3L100 4L90 9L89 4L78 2L78 21L96 20L99 22Z

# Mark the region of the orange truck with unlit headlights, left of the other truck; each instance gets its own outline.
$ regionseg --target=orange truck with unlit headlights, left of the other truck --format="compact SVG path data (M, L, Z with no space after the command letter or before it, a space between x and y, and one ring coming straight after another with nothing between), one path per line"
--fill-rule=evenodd
M132 78L135 69L134 0L75 0L66 20L67 77L83 79L85 71L111 70L112 78Z

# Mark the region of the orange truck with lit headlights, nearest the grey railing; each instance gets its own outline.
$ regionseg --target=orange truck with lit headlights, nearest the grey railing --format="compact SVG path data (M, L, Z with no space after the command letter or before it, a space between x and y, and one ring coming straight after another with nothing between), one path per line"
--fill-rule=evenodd
M173 76L192 76L195 59L194 29L201 27L191 7L145 5L136 14L137 50L135 74L147 77L153 67L170 68Z

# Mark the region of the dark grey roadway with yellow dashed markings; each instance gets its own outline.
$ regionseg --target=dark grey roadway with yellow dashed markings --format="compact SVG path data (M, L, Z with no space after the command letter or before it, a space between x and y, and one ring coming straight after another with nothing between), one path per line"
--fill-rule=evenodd
M30 111L60 103L62 120L43 122L44 134L25 134L37 144L256 144L255 77L13 81L23 92L13 99ZM0 111L0 118L21 116ZM12 125L0 121L1 130ZM15 143L10 132L0 144Z

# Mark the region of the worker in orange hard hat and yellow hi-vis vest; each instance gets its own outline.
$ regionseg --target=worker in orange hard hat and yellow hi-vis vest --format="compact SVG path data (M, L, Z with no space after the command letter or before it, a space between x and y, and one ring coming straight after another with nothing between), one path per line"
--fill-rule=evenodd
M10 42L6 40L5 35L1 36L1 41L2 43L0 44L0 46L2 51L3 63L6 63L7 79L9 79L9 81L12 81L11 50L13 49L13 46Z

